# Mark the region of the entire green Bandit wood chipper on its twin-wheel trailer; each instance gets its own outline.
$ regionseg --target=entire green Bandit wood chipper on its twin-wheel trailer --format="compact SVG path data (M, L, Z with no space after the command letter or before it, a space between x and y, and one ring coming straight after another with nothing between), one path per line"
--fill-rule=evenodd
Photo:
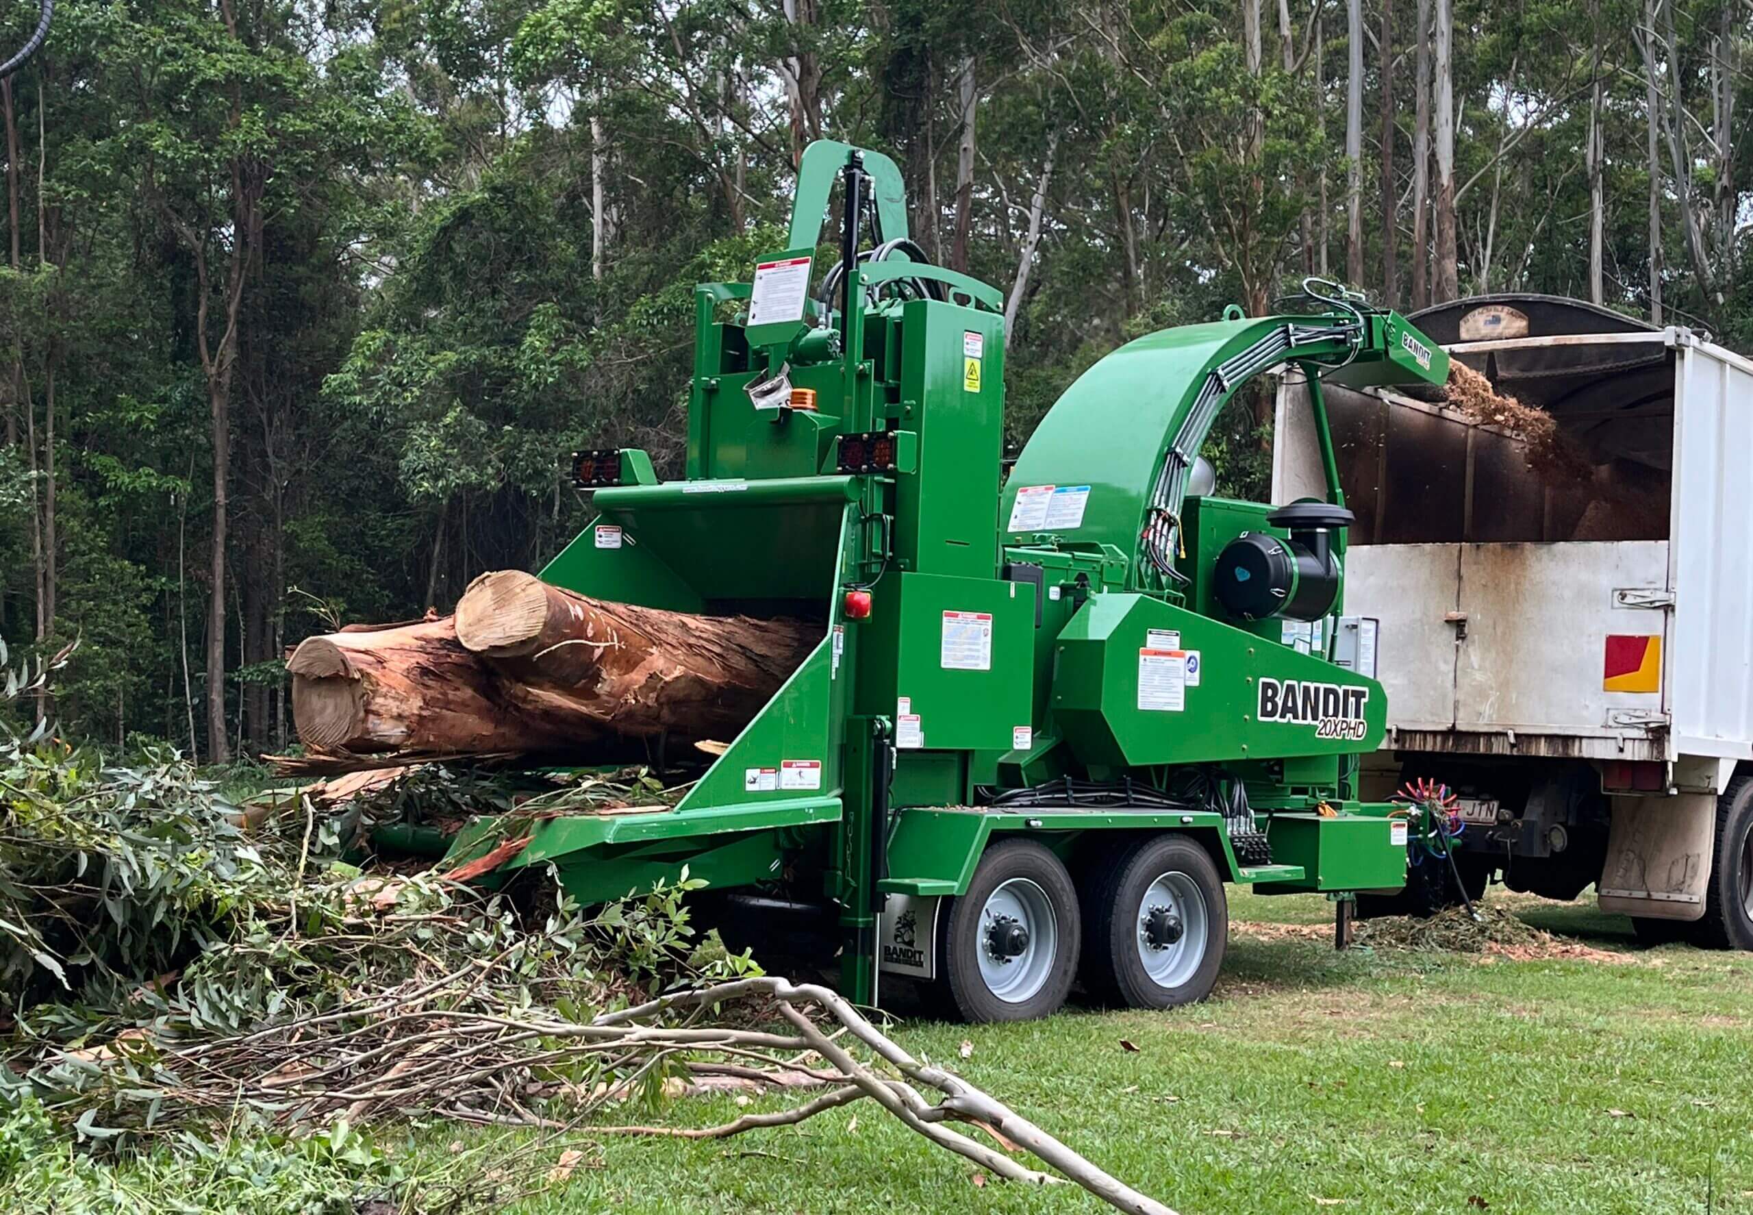
M696 288L685 479L580 452L600 515L542 577L824 640L678 805L540 822L507 868L589 903L685 866L736 927L826 926L855 1001L903 975L975 1020L1047 1015L1075 980L1206 996L1225 882L1322 891L1341 920L1402 885L1416 814L1353 794L1385 705L1346 649L1331 451L1327 500L1276 508L1213 496L1199 459L1274 366L1308 375L1320 435L1324 377L1446 380L1397 314L1309 291L1120 347L1001 486L1003 296L926 263L892 160L810 146L789 247Z

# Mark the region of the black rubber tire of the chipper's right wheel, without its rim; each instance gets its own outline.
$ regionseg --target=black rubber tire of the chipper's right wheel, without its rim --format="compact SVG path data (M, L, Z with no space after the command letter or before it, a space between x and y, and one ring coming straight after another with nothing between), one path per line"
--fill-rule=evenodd
M1206 905L1206 952L1187 982L1157 984L1138 957L1138 908L1150 884L1185 873ZM1127 1008L1176 1008L1204 999L1229 945L1229 899L1211 856L1185 835L1157 835L1111 849L1083 882L1083 991Z

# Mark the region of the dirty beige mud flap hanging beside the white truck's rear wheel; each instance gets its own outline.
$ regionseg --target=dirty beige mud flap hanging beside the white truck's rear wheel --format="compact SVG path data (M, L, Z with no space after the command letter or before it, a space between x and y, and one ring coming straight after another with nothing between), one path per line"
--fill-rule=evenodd
M1713 792L1613 798L1600 910L1657 920L1700 919L1714 831Z

